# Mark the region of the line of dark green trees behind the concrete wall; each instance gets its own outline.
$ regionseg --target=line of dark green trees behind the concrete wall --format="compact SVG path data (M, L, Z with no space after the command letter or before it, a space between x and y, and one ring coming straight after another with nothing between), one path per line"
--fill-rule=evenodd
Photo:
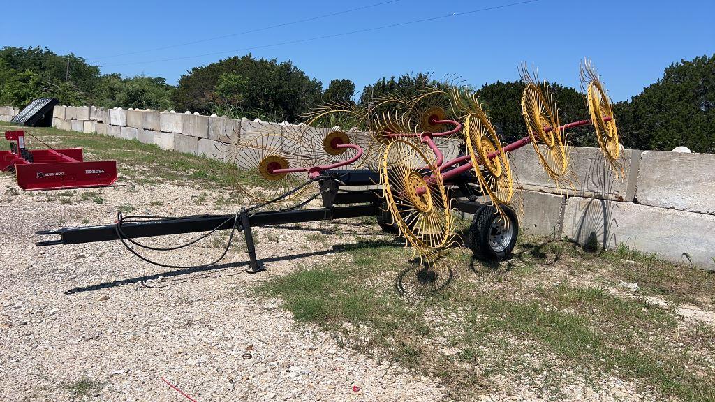
M416 94L425 84L449 84L429 74L385 77L365 86L354 99L350 79L322 82L308 77L292 62L255 59L251 54L194 67L177 86L160 77L101 74L98 66L74 54L60 56L49 49L0 49L0 104L24 107L38 97L56 97L61 104L101 107L190 110L230 117L295 122L324 102L367 102L369 97L400 92ZM573 87L549 84L558 101L562 122L588 116L583 94ZM503 137L523 136L521 81L473 87ZM628 101L614 104L624 146L671 150L684 145L694 152L715 152L715 54L681 60L666 67L661 79ZM592 129L568 131L571 144L596 145Z

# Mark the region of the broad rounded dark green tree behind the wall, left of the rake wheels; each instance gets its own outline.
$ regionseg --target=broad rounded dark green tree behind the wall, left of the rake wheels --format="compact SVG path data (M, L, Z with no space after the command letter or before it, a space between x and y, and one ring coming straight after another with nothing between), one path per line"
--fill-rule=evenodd
M321 97L320 81L307 77L292 62L254 59L248 54L194 67L179 79L172 99L177 109L202 114L231 106L250 119L295 121ZM227 103L232 99L237 104Z

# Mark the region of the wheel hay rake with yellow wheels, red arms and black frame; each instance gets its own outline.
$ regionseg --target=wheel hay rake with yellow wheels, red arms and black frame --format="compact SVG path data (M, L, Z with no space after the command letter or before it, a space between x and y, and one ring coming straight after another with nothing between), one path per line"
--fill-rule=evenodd
M453 211L458 210L474 214L468 239L473 253L503 260L518 235L518 214L510 206L514 190L509 152L532 144L546 174L563 185L571 174L564 132L592 124L604 158L622 172L611 102L588 61L581 64L581 82L591 119L568 124L560 123L546 84L526 69L521 72L526 82L521 107L527 136L511 144L502 143L487 111L467 89L428 87L413 97L325 104L305 124L277 127L257 121L252 122L250 135L227 136L228 173L255 203L252 207L235 215L170 219L119 214L115 225L38 232L59 239L37 245L122 240L144 247L133 239L216 230L232 230L233 235L242 230L250 256L247 271L257 272L262 265L251 227L376 215L384 230L400 233L420 265L439 270L449 265L445 256L455 242ZM353 122L359 129L315 127L328 117ZM302 209L319 196L322 207ZM480 196L483 202L478 202ZM265 210L275 205L284 206Z

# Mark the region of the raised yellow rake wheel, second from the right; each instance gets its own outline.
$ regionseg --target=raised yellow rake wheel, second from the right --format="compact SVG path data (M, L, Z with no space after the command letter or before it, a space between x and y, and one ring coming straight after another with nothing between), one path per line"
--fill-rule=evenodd
M521 112L536 155L551 180L560 184L568 172L568 152L559 129L558 109L543 89L528 82L521 92ZM547 127L550 128L547 131Z

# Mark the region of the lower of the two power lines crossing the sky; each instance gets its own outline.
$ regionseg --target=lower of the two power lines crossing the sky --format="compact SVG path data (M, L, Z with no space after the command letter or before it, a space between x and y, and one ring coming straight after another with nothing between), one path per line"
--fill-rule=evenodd
M184 57L172 57L169 59L158 59L158 60L151 60L147 62L132 62L132 63L121 63L121 64L105 64L102 67L119 67L119 66L132 66L135 64L150 64L150 63L161 63L161 62L173 62L174 60L184 60L184 59L195 59L197 57L205 57L205 56L215 56L217 54L227 54L227 53L238 53L238 52L245 52L247 50L255 50L255 49L265 49L267 47L275 47L275 46L283 46L286 44L298 44L298 43L304 43L307 41L316 41L320 39L330 39L330 38L335 38L337 36L346 36L346 35L352 35L352 34L361 34L363 32L369 32L369 31L378 31L379 29L388 29L388 28L394 28L395 26L405 26L405 25L411 25L411 24L419 24L421 22L428 22L428 21L435 21L438 19L445 19L445 18L450 18L453 16L464 16L467 14L474 14L482 11L491 11L495 9L504 9L506 7L511 7L511 6L518 6L521 4L528 4L528 3L536 3L539 0L526 0L526 1L518 1L516 3L510 3L510 4L503 4L501 6L492 6L492 7L485 7L483 9L475 9L475 10L470 10L470 11L462 11L459 13L451 13L451 14L445 14L441 16L433 16L430 18L423 18L423 19L415 19L413 21L406 21L406 22L400 22L398 24L389 24L389 25L383 25L383 26L375 26L373 28L365 28L365 29L357 29L355 31L347 31L347 32L342 32L340 34L330 34L330 35L322 35L322 36L314 36L312 38L307 38L307 39L297 39L294 41L283 41L283 42L278 42L275 44L265 44L265 45L259 45L259 46L250 46L250 47L245 47L242 49L235 49L235 50L228 50L225 52L212 52L212 53L204 53L204 54L196 54L194 56L184 56Z

